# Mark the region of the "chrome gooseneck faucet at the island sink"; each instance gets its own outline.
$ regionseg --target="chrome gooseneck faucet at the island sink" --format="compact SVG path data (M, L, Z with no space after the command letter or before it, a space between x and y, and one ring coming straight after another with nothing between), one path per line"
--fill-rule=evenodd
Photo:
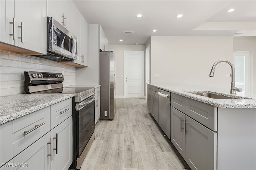
M211 72L209 74L210 77L214 77L214 71L215 71L215 67L218 63L228 63L231 67L231 88L230 88L230 94L234 95L236 94L236 91L239 91L241 92L242 89L240 88L237 88L235 87L235 68L234 68L234 65L228 61L228 60L219 60L219 61L216 61L213 65L212 65L212 69L211 69Z

